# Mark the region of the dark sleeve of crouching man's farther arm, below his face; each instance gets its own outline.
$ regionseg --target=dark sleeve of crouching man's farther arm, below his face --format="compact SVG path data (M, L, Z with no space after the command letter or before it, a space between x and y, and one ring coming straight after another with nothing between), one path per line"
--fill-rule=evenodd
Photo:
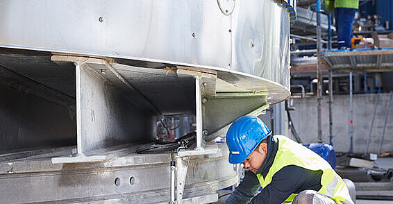
M244 172L243 182L235 188L231 196L226 199L225 204L246 204L256 195L260 187L256 174L251 171Z

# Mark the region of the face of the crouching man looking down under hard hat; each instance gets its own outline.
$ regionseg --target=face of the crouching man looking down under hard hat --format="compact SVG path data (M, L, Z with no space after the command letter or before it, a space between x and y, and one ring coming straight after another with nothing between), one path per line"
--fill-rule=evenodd
M262 166L267 155L267 144L261 143L254 151L244 160L244 168L249 169L253 173L256 173Z

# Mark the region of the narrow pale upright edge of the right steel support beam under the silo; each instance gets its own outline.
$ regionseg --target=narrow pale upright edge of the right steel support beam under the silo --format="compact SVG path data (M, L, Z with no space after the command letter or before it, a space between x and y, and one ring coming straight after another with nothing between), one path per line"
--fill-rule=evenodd
M195 77L195 112L196 112L196 148L195 150L202 150L202 96L201 84L199 76Z

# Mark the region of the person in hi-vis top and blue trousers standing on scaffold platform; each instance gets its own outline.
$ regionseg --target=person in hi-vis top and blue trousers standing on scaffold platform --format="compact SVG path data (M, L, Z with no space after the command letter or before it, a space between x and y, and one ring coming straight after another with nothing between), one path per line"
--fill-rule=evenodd
M359 0L325 0L325 6L328 11L334 10L338 47L351 48L352 24Z

